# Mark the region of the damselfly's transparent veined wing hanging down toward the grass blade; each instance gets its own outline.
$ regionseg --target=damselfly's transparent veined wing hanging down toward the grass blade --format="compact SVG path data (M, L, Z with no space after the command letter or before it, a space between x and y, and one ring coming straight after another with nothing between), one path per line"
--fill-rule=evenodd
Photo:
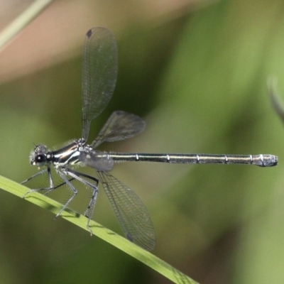
M143 249L152 251L155 232L143 202L135 192L109 173L97 171L97 174L126 238Z

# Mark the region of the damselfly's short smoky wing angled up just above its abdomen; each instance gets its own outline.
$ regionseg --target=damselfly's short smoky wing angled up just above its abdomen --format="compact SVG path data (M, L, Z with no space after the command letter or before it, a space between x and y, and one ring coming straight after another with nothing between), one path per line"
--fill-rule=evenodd
M91 147L97 148L104 141L113 142L136 136L144 129L145 121L139 116L125 111L114 111L91 144Z

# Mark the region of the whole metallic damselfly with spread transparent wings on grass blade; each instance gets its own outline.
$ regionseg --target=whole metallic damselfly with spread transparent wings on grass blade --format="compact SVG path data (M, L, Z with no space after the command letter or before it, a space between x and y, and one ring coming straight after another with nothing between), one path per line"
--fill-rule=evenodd
M155 232L148 211L138 195L129 187L114 178L109 171L114 163L121 161L146 161L163 163L222 163L250 164L261 167L277 165L275 155L209 155L209 154L153 154L153 153L113 153L95 150L103 142L120 141L141 133L145 122L140 117L125 111L114 111L104 124L97 138L87 144L91 121L107 107L114 92L118 70L117 47L114 35L107 28L92 28L84 41L82 67L82 136L56 151L49 151L43 145L35 146L31 152L31 165L44 167L22 183L43 174L48 175L48 187L31 189L26 192L47 194L62 185L67 186L72 195L63 205L56 217L77 195L74 181L82 182L92 191L92 198L84 212L87 228L92 234L89 222L92 219L97 200L98 185L102 182L104 191L114 209L119 224L127 239L148 251L155 246ZM97 172L97 178L80 173L75 165L88 165ZM55 185L51 173L52 166L62 182ZM26 197L24 195L24 197Z

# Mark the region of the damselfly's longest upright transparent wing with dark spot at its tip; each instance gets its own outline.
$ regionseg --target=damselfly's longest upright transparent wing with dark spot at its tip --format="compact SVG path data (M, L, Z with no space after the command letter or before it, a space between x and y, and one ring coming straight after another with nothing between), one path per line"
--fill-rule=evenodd
M84 40L82 72L82 138L87 141L89 126L107 106L117 77L117 46L107 28L92 28Z

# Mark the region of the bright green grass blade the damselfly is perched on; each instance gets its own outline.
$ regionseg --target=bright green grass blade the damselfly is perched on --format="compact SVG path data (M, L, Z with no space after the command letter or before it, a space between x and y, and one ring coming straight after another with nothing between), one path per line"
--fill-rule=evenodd
M23 197L28 190L27 187L2 176L0 176L0 188L18 197ZM30 193L25 199L33 204L43 207L44 209L48 209L48 211L53 212L54 214L56 214L62 207L62 204L59 202L56 202L45 195L40 195L37 192ZM67 221L80 226L82 229L89 231L86 226L87 218L73 211L72 209L65 209L60 216ZM98 236L104 241L107 241L109 244L116 246L116 248L128 253L130 256L133 256L133 258L138 259L138 261L141 261L153 270L164 275L166 278L172 280L173 283L197 283L195 280L192 280L187 275L173 268L173 266L170 266L168 263L165 263L165 261L162 261L160 258L154 256L152 253L149 253L135 244L132 244L130 241L124 239L124 237L119 236L118 234L114 233L114 231L105 228L101 224L91 220L89 226L92 228L92 232L95 236Z

